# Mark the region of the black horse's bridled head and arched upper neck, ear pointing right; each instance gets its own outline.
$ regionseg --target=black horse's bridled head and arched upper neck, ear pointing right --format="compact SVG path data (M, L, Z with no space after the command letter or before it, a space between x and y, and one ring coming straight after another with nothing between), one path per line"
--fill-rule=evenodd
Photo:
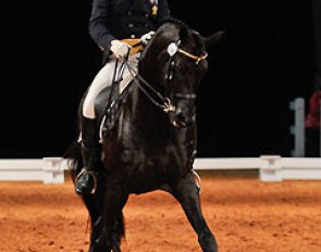
M203 38L184 23L163 23L144 50L138 73L161 94L162 109L175 127L186 127L196 118L196 97L207 68L207 47L222 32Z

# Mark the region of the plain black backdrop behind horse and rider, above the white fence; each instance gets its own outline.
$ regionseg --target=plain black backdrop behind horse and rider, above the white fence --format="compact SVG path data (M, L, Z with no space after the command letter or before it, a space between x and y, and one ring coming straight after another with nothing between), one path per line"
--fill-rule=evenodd
M76 138L77 103L100 66L87 32L90 0L17 1L3 11L0 158L61 156ZM289 156L296 97L313 90L314 39L307 0L171 1L173 16L209 51L198 96L198 156ZM4 56L5 55L5 56Z

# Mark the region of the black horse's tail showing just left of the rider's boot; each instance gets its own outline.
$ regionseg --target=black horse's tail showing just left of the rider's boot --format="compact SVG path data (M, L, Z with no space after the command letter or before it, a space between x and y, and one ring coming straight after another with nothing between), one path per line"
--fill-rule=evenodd
M70 144L64 153L64 159L67 161L67 167L71 173L73 182L77 177L77 174L83 167L82 148L78 141L74 141Z

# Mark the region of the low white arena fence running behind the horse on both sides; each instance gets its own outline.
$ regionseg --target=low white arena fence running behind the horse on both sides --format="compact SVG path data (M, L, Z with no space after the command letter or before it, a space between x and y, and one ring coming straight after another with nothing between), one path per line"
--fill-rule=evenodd
M317 180L321 179L320 158L198 158L196 171L258 169L262 181ZM67 171L62 158L0 160L1 181L42 181L63 184Z

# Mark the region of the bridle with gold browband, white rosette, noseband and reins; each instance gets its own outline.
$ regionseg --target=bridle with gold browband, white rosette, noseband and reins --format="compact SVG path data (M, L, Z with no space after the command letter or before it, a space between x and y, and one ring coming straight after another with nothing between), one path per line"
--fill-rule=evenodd
M188 51L183 50L180 48L181 40L177 40L176 42L172 42L168 46L168 53L170 55L169 60L169 70L166 75L166 81L168 85L174 79L175 75L175 55L177 53L181 53L192 60L195 61L195 64L199 64L200 61L203 61L207 59L208 54L205 53L203 55L195 55ZM139 87L139 89L145 93L145 96L158 108L160 108L164 113L175 112L175 105L172 102L172 100L169 97L164 97L161 92L159 92L155 87L152 87L140 74L135 73L133 68L131 68L127 65L129 72L132 73L134 77L134 81ZM145 85L143 86L141 83ZM157 101L152 94L156 94L160 101ZM178 99L196 99L196 93L175 93L175 98Z

